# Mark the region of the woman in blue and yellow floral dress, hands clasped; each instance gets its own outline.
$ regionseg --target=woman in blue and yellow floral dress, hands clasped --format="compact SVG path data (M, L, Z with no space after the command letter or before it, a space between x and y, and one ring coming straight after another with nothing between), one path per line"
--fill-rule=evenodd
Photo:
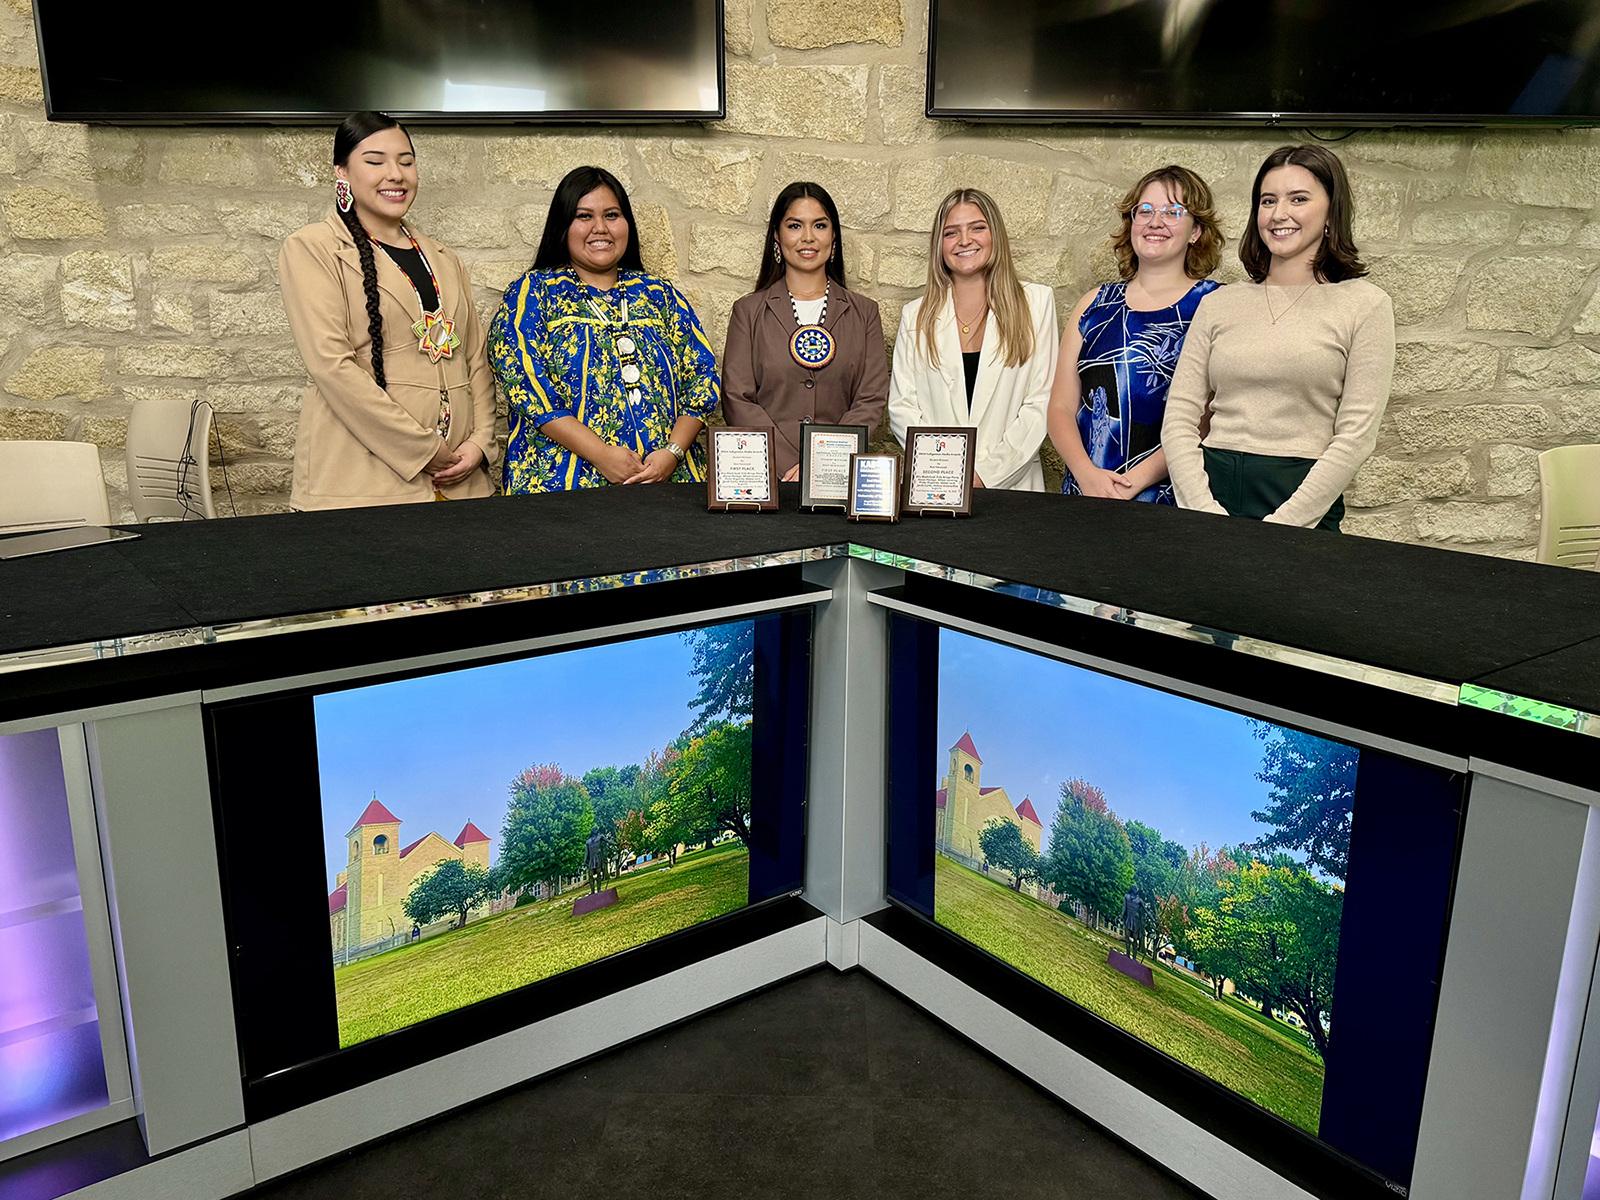
M717 358L688 301L645 274L634 229L616 176L570 171L533 270L494 314L507 493L706 478L698 437L717 408Z

